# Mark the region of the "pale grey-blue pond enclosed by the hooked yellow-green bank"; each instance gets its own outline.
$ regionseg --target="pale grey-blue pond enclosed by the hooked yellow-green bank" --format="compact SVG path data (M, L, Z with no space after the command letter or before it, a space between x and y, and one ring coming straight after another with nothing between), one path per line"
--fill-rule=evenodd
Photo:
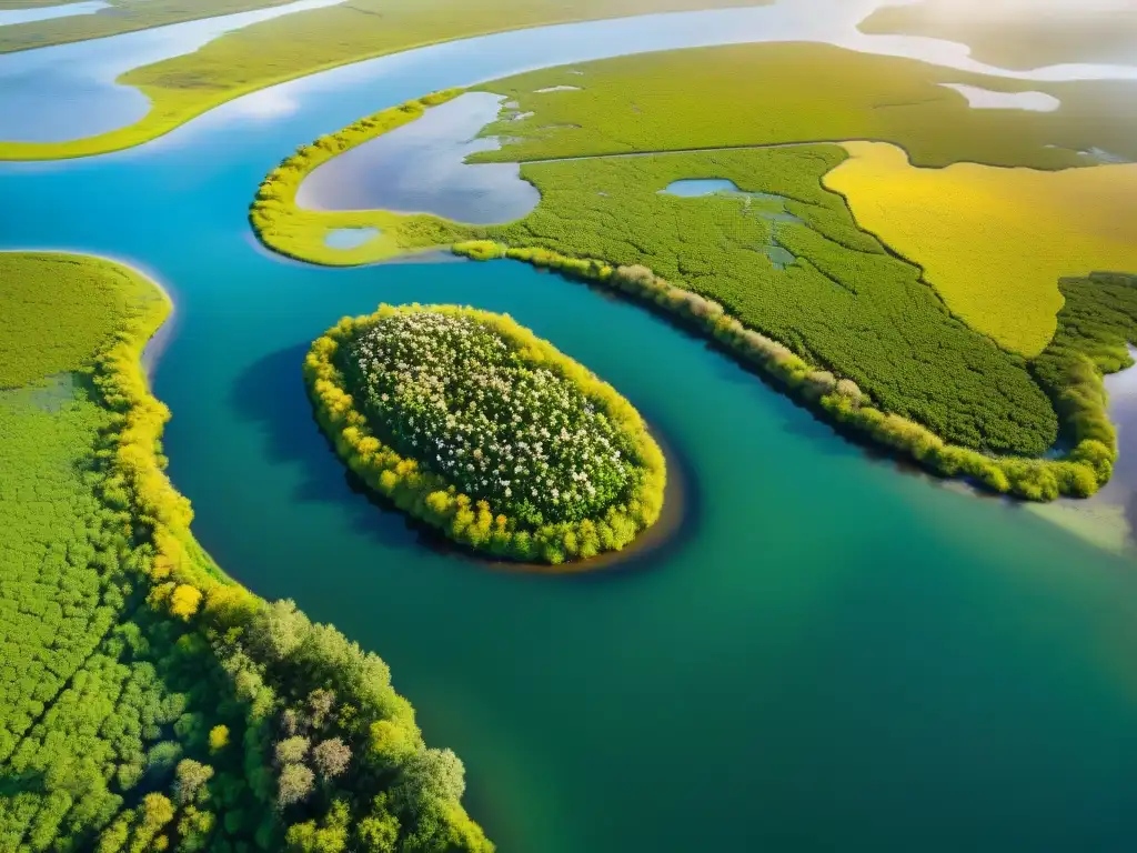
M530 213L540 193L515 163L467 165L467 155L498 148L478 133L505 99L470 92L410 124L323 164L300 184L297 202L312 210L430 213L488 225Z

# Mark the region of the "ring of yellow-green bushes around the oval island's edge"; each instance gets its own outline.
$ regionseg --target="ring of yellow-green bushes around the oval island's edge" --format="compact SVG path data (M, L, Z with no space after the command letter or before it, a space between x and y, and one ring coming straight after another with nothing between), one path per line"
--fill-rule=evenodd
M642 477L626 502L609 506L597 517L530 527L496 512L485 500L459 492L421 461L401 456L389 444L392 437L374 434L356 404L358 389L346 379L352 368L345 358L362 332L398 310L425 309L381 306L370 316L345 317L313 343L304 365L316 420L339 456L368 488L462 545L524 562L558 564L620 550L655 523L663 507L666 469L642 419L615 389L507 316L454 306L431 308L475 318L521 350L529 364L576 383L632 442Z

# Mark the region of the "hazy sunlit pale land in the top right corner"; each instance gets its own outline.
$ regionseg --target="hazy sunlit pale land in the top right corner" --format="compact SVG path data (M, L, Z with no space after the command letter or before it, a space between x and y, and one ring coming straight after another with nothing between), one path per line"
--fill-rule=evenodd
M1117 0L1041 0L1030 9L1014 0L923 0L878 9L861 30L962 42L976 59L1003 68L1063 63L1131 65L1137 6L1122 8Z

